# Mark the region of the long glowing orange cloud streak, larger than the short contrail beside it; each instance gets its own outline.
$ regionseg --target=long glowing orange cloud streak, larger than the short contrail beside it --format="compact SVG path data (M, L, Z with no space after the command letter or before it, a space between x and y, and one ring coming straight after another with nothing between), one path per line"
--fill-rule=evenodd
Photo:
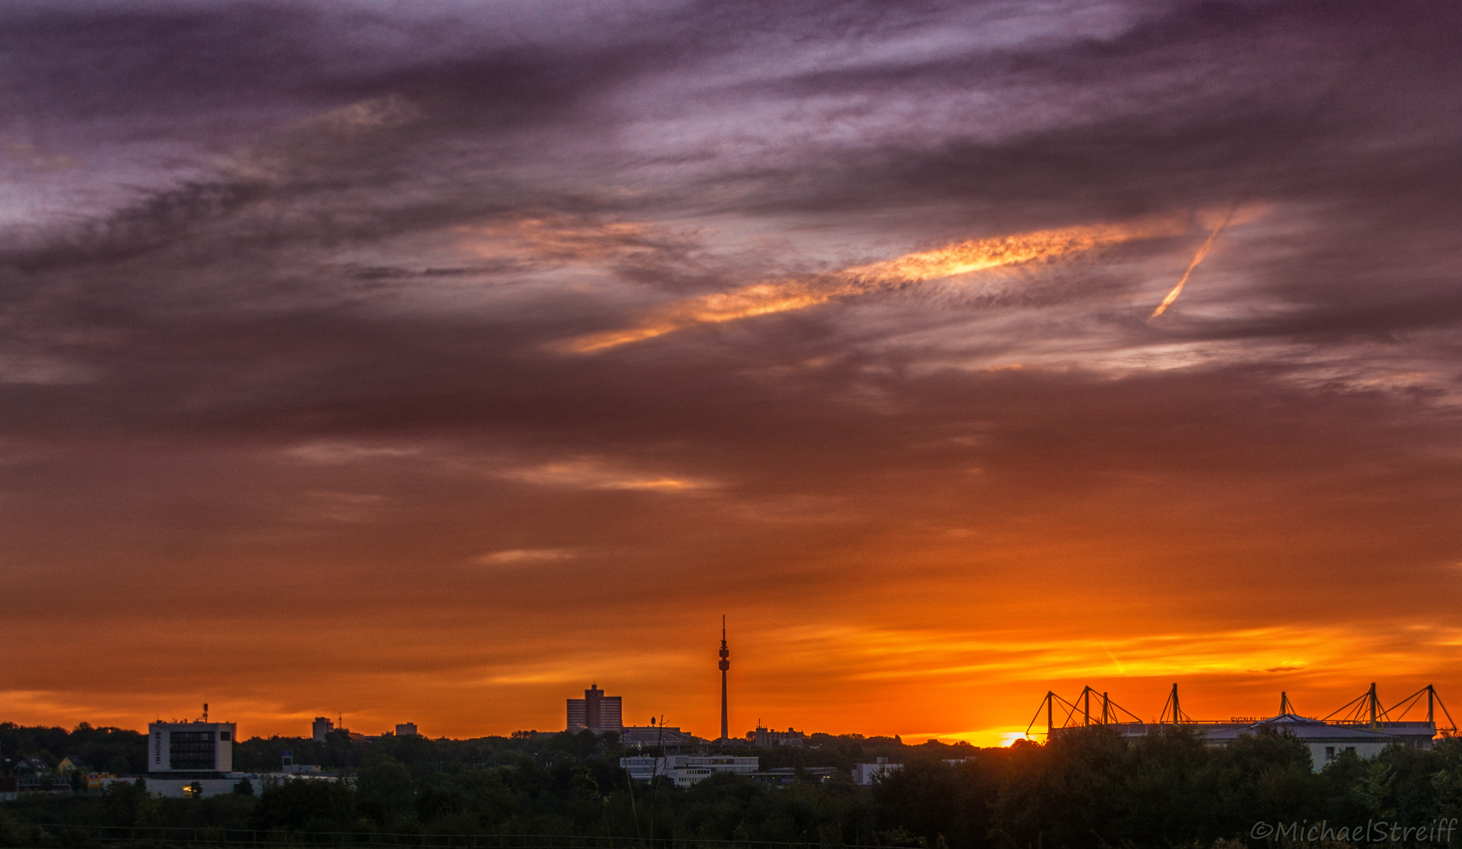
M1227 219L1225 219L1227 221ZM770 281L730 292L700 295L651 311L635 327L580 336L569 342L576 352L601 351L643 342L697 324L719 324L769 313L785 313L826 304L835 298L867 295L908 283L952 278L971 272L1045 262L1098 247L1170 235L1170 221L1126 225L1042 229L999 238L961 241L942 248L909 253L882 263L854 266L816 278Z

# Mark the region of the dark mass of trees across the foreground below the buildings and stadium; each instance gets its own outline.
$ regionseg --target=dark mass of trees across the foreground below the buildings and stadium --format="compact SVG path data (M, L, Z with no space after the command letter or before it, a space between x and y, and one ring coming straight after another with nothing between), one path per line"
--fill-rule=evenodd
M823 738L819 748L763 750L763 769L794 780L763 785L722 774L692 788L632 782L616 735L431 741L339 736L249 741L249 757L339 757L352 780L287 780L208 799L162 799L136 783L94 796L23 796L0 805L0 842L34 840L28 824L171 826L380 834L580 834L646 840L792 842L823 846L1073 848L1262 846L1275 827L1427 829L1406 843L1439 845L1434 826L1462 817L1462 742L1430 751L1393 747L1360 760L1342 754L1313 772L1308 750L1275 732L1209 747L1177 728L1133 742L1102 728L1037 745L978 750L906 747L893 739ZM746 750L741 750L746 753ZM902 770L863 788L798 767L889 755ZM323 758L322 758L323 760ZM958 760L958 763L946 763ZM781 763L778 763L781 761ZM278 761L273 761L278 763ZM1263 834L1265 829L1269 834ZM1374 829L1366 831L1373 836ZM1447 833L1462 842L1462 829ZM1347 834L1348 836L1348 834ZM1319 840L1311 843L1320 845Z

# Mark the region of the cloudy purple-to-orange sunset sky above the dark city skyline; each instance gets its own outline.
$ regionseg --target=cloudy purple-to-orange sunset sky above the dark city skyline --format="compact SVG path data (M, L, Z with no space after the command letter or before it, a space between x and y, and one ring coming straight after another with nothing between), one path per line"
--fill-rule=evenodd
M1462 716L1458 32L6 3L0 720Z

